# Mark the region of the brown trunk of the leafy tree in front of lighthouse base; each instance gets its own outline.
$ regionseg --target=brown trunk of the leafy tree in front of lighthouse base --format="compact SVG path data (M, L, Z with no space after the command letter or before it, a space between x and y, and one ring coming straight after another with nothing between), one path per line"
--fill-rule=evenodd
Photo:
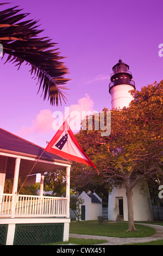
M128 206L128 229L126 231L132 231L137 229L134 225L134 211L133 211L133 191L131 189L126 190L127 206Z

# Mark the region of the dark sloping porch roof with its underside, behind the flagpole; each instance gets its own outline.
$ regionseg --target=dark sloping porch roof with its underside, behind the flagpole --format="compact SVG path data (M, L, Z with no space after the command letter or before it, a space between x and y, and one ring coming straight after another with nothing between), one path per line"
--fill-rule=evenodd
M0 156L8 156L6 179L14 178L15 159L21 158L19 176L26 176L44 149L0 128ZM31 174L48 172L71 165L70 160L44 152Z

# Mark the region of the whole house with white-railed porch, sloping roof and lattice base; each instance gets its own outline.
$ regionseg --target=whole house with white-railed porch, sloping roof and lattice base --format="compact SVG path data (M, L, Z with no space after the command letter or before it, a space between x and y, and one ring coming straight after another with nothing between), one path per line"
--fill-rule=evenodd
M1 245L68 241L72 162L43 151L38 145L0 129ZM44 173L60 168L65 168L66 172L66 197L43 196ZM18 178L27 176L30 170L31 175L41 173L39 196L18 192ZM4 193L4 183L8 179L14 179L11 194Z

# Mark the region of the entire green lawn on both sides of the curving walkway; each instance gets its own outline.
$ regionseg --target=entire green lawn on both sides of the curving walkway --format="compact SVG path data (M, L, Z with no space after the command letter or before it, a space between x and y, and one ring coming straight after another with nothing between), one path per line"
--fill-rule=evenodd
M151 223L160 224L163 223ZM145 225L135 224L138 231L126 232L128 223L126 222L109 222L108 225L99 225L98 221L72 221L70 223L70 233L85 234L85 235L99 235L99 236L113 236L113 237L146 237L155 234L155 229ZM49 245L66 245L71 243L73 245L97 245L98 243L105 243L106 240L97 239L78 239L70 237L67 242L50 243ZM132 243L129 245L163 245L163 240L156 240L146 243Z

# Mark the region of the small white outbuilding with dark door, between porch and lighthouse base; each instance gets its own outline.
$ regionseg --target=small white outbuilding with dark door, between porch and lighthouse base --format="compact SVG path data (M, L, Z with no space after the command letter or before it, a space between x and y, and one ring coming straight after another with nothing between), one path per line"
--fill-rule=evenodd
M86 194L83 191L79 197L84 199L81 205L82 221L97 220L97 216L102 216L102 199L95 192Z

